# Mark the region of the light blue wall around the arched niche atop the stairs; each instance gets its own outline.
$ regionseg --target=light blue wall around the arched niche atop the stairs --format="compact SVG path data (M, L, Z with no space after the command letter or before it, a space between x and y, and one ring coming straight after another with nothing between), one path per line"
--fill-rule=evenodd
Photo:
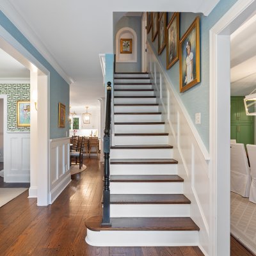
M137 34L137 62L136 63L116 63L116 72L141 72L141 17L124 16L114 24L113 33L114 52L116 49L116 33L119 29L129 27Z

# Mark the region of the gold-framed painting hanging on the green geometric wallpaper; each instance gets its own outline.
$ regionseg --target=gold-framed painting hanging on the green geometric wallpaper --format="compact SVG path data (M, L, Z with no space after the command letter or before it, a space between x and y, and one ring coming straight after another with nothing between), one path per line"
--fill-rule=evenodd
M17 101L17 127L30 127L30 102Z

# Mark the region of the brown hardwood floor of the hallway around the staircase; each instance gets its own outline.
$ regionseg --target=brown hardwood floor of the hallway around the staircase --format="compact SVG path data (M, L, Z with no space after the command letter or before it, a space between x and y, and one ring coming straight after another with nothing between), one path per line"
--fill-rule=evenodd
M97 159L84 159L84 164L86 171L72 177L72 182L54 204L37 207L35 198L28 198L26 191L0 208L0 255L203 255L196 246L94 247L86 244L84 220L102 211L103 171ZM237 247L236 240L231 244L232 256L252 256L242 252L243 247Z

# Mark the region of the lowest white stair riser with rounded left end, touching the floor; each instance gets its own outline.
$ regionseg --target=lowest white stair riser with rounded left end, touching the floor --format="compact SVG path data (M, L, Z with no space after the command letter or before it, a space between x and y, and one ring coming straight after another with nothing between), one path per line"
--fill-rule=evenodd
M92 246L198 246L198 231L92 231L86 243Z

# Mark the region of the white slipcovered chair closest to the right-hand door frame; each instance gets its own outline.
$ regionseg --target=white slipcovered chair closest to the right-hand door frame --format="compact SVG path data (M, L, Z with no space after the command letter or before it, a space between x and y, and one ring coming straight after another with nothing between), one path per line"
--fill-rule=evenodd
M230 143L230 190L248 197L251 175L243 143Z

